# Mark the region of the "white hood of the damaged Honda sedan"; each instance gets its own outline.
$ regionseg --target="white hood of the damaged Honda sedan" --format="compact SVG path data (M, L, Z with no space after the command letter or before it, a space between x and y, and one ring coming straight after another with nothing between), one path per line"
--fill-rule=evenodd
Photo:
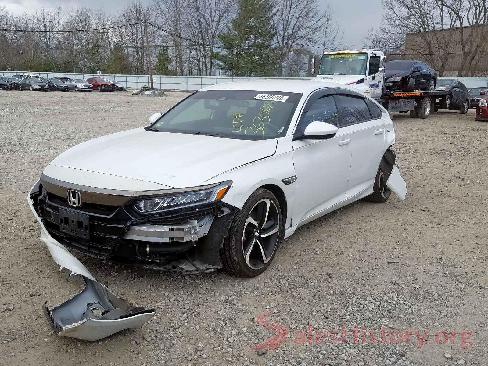
M274 139L225 139L137 128L83 142L49 165L183 188L203 184L227 170L271 156L276 145ZM53 169L48 166L44 174L71 181L70 177L54 177L49 171ZM110 188L103 182L98 186Z

